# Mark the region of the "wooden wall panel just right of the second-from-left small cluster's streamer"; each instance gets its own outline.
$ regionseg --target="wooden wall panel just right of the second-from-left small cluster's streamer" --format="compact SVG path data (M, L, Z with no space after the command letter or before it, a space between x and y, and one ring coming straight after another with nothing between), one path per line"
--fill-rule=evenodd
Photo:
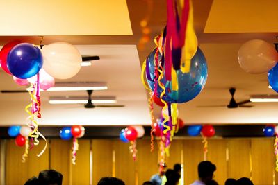
M72 185L90 184L90 140L79 139L76 164L72 164Z

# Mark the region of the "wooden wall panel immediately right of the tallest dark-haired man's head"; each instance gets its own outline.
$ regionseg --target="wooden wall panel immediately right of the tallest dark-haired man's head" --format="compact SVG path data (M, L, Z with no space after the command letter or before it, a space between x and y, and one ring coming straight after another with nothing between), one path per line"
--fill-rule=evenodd
M224 184L227 179L226 140L208 139L208 161L216 166L214 173L218 184Z

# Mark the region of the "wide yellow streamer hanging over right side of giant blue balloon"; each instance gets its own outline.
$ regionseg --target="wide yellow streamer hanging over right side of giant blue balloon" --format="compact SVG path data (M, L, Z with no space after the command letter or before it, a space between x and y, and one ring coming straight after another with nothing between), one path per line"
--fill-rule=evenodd
M183 0L180 0L181 5L183 6ZM198 47L198 41L194 30L193 25L193 5L192 1L190 0L189 5L189 15L188 15L188 22L186 28L186 42L185 46L183 46L182 53L181 53L181 71L183 73L188 73L190 71L190 63L191 59L195 55Z

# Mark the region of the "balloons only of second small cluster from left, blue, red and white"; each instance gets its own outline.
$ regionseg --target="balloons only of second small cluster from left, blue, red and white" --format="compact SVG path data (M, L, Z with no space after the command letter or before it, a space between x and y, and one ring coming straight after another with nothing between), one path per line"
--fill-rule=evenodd
M60 138L63 140L70 140L72 137L81 138L85 134L85 128L81 125L74 125L72 127L63 127L60 130Z

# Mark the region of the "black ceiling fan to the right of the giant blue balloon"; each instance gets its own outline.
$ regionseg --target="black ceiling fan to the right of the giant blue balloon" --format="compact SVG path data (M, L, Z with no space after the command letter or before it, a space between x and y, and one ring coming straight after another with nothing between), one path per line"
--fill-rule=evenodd
M250 100L243 100L240 102L236 102L236 100L234 99L234 94L236 92L236 88L231 87L229 89L229 92L231 94L231 100L229 101L228 105L208 105L208 106L198 106L198 107L227 107L229 109L234 109L234 108L238 108L238 107L245 107L245 108L250 108L253 107L253 105L245 105L247 103L250 103Z

